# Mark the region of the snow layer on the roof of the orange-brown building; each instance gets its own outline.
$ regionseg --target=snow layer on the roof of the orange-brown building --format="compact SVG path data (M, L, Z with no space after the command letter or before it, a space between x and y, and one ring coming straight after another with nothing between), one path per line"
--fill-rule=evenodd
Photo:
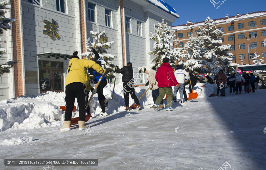
M253 12L250 14L239 15L239 17L236 15L236 16L229 17L227 19L225 18L213 19L213 21L214 23L219 24L219 23L224 23L224 22L233 22L234 20L242 20L242 19L256 18L256 17L262 17L262 16L266 16L266 11ZM183 30L183 29L190 29L192 27L202 27L204 26L204 22L205 21L195 22L195 23L192 23L192 25L187 25L187 24L177 25L177 26L173 26L173 29Z

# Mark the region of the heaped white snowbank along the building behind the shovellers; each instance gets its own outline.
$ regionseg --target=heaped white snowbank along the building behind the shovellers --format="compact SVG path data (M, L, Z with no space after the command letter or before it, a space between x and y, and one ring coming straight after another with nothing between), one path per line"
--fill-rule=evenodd
M201 87L203 83L197 83L193 88L193 92L198 93L198 97L206 97L212 94L216 88L215 84L207 84L206 87ZM189 93L188 86L186 86L186 93ZM140 87L135 88L135 93L138 98L142 96L145 89ZM123 84L119 83L115 86L115 93L112 98L113 84L107 84L103 89L104 96L109 99L108 109L106 112L108 115L124 111L124 91ZM89 93L89 97L91 92ZM6 130L12 128L16 129L35 129L41 127L54 127L61 126L64 120L64 111L60 109L60 106L65 106L65 92L51 92L39 94L37 96L20 96L9 100L0 101L0 129ZM177 99L180 99L179 92L177 93ZM164 101L166 104L167 102ZM129 98L129 105L134 105L134 100ZM140 99L140 105L142 108L150 107L153 104L152 90L148 90L147 93ZM72 117L79 117L79 106L77 99L75 100L76 112L72 114ZM98 101L98 95L95 94L90 102L90 110L92 118L98 117L101 108Z

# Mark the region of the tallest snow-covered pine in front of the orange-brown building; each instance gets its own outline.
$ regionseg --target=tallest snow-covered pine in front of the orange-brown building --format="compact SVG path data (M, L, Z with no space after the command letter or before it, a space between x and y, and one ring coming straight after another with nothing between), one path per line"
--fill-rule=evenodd
M219 36L223 35L223 32L216 29L215 23L210 17L205 20L205 28L199 28L199 36L202 36L198 46L206 48L204 58L208 62L206 68L213 75L218 74L220 69L224 72L235 72L238 64L231 62L232 53L229 52L231 45L221 45L222 40Z

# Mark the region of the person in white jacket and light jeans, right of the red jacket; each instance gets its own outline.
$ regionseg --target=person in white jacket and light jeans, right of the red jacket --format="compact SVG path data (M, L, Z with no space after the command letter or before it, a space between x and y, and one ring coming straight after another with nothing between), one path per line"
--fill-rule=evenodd
M185 83L185 79L189 78L189 73L184 71L184 68L182 65L177 65L175 72L174 72L174 75L176 77L176 81L179 83L179 87L176 87L176 86L174 87L173 99L174 99L174 102L176 102L176 93L179 90L181 103L183 103L184 83Z

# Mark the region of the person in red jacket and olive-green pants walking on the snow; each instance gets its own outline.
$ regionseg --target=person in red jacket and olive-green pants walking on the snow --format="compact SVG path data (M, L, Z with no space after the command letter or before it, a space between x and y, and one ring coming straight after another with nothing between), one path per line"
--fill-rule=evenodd
M169 64L169 58L163 58L163 65L160 66L155 74L155 79L158 82L159 87L159 96L157 97L153 108L158 111L158 105L165 94L167 94L167 111L173 110L172 99L173 99L173 89L171 86L179 86L179 83L176 81L173 68Z

